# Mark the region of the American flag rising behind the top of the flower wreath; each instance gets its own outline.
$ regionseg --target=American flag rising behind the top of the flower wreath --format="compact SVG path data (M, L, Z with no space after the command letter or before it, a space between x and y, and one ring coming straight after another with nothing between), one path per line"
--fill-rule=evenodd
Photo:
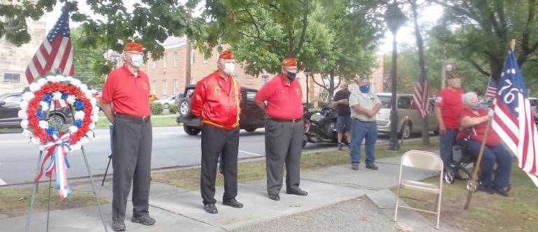
M39 46L36 55L26 68L26 80L32 83L34 79L44 76L48 71L63 75L74 76L73 48L69 38L69 14L64 8L53 29Z

